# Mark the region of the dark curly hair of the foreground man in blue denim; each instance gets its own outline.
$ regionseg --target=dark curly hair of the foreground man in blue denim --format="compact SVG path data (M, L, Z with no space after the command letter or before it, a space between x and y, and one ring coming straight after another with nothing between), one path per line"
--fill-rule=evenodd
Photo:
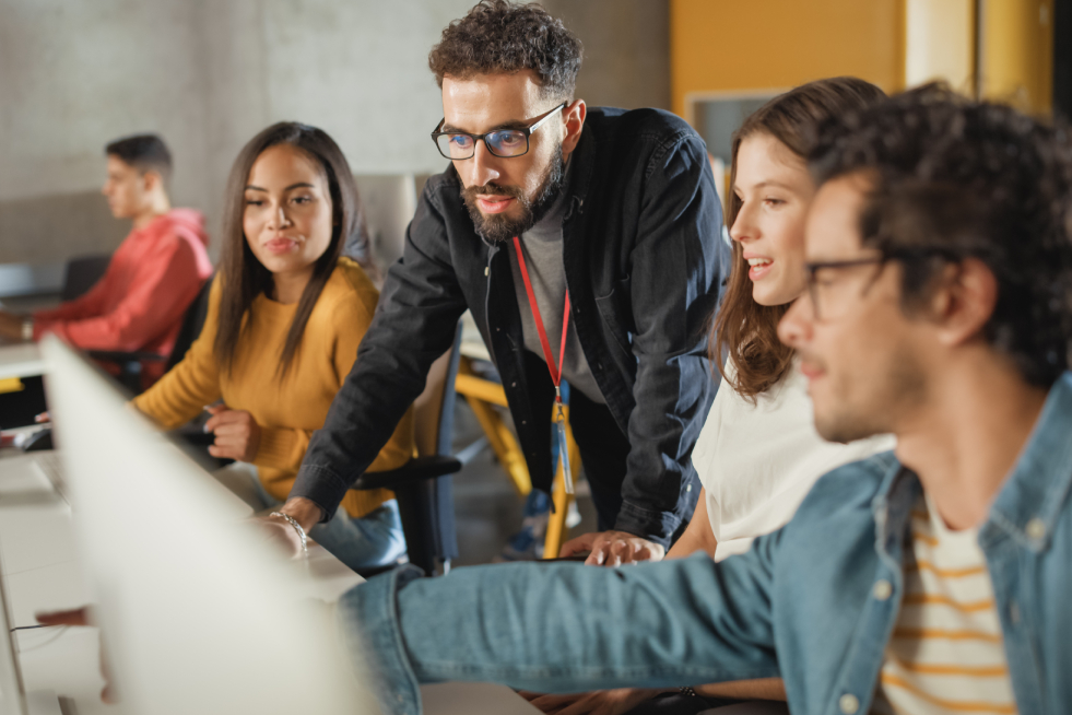
M1011 107L929 84L832 121L810 155L818 183L863 172L863 243L904 267L906 314L950 263L998 281L983 333L1024 378L1052 385L1072 348L1072 137Z

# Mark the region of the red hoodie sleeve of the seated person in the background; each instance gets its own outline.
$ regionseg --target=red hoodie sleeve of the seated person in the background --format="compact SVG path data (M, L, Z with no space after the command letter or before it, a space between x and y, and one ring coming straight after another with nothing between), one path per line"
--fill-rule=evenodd
M139 350L181 319L200 285L193 249L172 234L161 241L152 260L139 267L115 310L50 320L42 330L55 332L83 350ZM86 296L87 304L92 304L98 288L101 284Z

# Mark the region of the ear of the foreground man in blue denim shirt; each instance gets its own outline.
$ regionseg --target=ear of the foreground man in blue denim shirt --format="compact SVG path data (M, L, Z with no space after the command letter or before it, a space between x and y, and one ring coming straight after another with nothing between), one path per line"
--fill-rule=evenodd
M931 308L940 340L955 345L982 332L998 305L993 271L978 258L967 258L946 266L935 283Z

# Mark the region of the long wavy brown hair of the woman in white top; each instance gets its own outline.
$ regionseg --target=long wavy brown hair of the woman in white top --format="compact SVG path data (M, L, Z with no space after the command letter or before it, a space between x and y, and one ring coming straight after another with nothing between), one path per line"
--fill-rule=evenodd
M730 186L737 183L741 142L749 137L759 133L774 137L801 161L806 161L822 122L863 109L885 96L875 85L855 77L817 80L778 95L756 109L733 133ZM741 211L741 200L731 190L727 203L726 225L732 227ZM729 285L711 324L710 356L722 378L754 402L756 396L774 387L789 371L793 351L778 340L778 321L789 304L759 305L752 298L749 265L742 254L741 244L733 242ZM732 379L726 374L722 355L730 358L737 368Z

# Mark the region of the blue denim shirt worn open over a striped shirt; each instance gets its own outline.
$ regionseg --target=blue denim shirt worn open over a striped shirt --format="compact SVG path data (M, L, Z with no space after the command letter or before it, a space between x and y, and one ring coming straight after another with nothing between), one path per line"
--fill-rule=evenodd
M1070 488L1065 373L979 529L1024 715L1072 713ZM339 619L390 713L420 712L419 682L575 692L773 676L793 713L865 713L920 491L887 453L826 474L792 521L720 564L506 564L436 579L401 571L346 593Z

